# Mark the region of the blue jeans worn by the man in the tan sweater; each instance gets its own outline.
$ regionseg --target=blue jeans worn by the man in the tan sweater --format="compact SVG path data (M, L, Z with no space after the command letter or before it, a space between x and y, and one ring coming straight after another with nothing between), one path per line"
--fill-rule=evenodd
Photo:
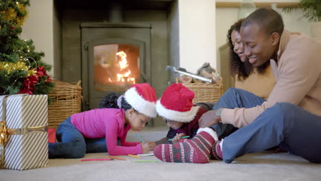
M239 104L255 104L261 100L245 90L229 89L230 99L222 101L239 107ZM221 101L219 99L219 101ZM215 105L216 106L216 105ZM246 106L244 106L246 107ZM321 162L321 117L289 103L276 103L265 110L252 123L224 138L223 160L230 163L243 154L262 152L279 146L310 162Z

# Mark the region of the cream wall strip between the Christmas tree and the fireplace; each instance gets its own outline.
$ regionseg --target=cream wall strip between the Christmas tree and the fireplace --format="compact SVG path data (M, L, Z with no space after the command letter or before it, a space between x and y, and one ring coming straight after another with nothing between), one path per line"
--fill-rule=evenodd
M53 1L30 0L28 13L21 38L32 39L36 51L45 52L43 62L53 65Z

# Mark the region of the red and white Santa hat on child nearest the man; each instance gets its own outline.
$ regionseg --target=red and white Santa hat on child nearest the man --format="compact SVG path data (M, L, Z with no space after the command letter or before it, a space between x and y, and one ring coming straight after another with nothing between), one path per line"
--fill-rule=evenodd
M157 101L156 110L161 117L172 121L189 123L198 113L200 106L193 106L194 93L182 83L167 87Z

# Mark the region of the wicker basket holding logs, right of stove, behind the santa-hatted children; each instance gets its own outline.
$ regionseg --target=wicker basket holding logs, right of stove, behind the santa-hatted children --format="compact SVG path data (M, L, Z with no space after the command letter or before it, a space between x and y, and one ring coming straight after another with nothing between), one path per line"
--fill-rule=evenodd
M223 95L223 84L183 83L195 93L193 104L198 102L217 102Z

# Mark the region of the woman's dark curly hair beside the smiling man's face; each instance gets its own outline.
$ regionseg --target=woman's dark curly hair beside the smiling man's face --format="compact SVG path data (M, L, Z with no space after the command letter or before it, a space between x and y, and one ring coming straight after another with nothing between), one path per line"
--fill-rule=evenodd
M230 74L235 77L237 75L238 80L245 80L254 71L254 67L250 62L242 62L237 53L234 52L234 46L232 43L232 32L239 32L244 19L239 19L234 25L230 26L228 29L228 45L230 45ZM260 74L265 73L265 69L270 65L270 61L265 62L265 64L257 67L257 71Z

